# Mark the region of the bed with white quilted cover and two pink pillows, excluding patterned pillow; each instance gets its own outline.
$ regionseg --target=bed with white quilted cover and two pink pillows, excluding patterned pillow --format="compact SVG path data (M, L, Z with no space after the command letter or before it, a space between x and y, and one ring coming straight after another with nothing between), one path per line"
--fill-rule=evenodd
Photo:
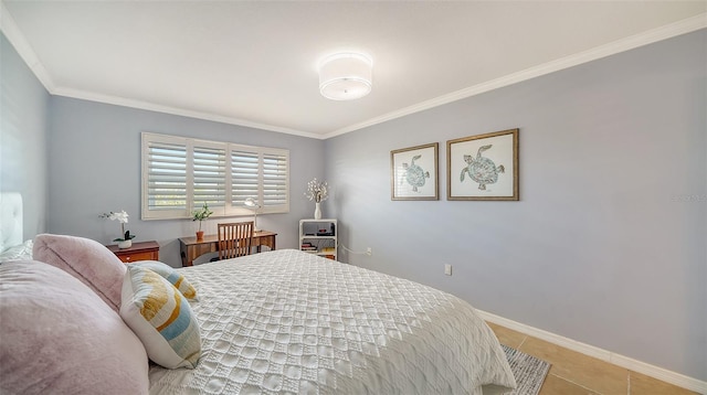
M160 273L172 281L175 300L189 295L186 285L193 290L182 311L199 346L193 366L163 367L125 310L131 274L167 265L126 268L114 258L91 239L38 235L31 255L0 264L0 393L408 395L515 387L497 339L467 302L295 249Z

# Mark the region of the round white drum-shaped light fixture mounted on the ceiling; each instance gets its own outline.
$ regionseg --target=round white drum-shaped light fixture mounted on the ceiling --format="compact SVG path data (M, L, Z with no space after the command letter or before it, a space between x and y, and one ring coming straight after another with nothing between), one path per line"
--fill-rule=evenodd
M352 100L371 92L373 62L367 55L341 52L319 62L319 92L331 100Z

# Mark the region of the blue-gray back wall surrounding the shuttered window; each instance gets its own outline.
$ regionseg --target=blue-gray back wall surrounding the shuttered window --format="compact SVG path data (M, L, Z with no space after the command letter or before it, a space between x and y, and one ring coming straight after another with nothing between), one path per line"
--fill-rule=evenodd
M181 266L177 238L198 225L139 218L141 131L289 149L289 213L258 215L257 226L277 232L278 248L297 247L298 221L314 212L307 181L324 174L321 140L65 97L52 97L50 109L50 232L112 244L119 225L98 214L125 210L134 242L157 241L160 260ZM205 221L203 231L215 233L218 222Z

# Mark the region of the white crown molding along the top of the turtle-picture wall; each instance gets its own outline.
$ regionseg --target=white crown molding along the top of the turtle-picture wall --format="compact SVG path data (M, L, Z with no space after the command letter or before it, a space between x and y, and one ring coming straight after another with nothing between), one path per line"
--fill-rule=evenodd
M430 100L425 100L410 107L405 107L392 113L388 113L386 115L369 119L363 122L350 125L345 128L326 134L324 138L328 139L328 138L344 135L354 130L359 130L362 128L367 128L369 126L382 124L391 119L401 118L414 113L423 111L423 110L442 106L452 102L476 96L476 95L490 92L494 89L498 89L508 85L517 84L527 79L539 77L546 74L558 72L560 70L577 66L582 63L595 61L602 57L614 55L614 54L633 50L640 46L648 45L648 44L663 41L666 39L671 39L674 36L678 36L682 34L690 33L705 28L707 28L707 13L700 13L698 15L684 19L675 23L652 29L643 33L634 34L625 39L614 41L609 44L600 45L588 51L564 56L552 62L548 62L538 66L526 68L517 73L513 73L496 79L492 79L478 85L474 85L464 89L453 92L447 95L443 95Z

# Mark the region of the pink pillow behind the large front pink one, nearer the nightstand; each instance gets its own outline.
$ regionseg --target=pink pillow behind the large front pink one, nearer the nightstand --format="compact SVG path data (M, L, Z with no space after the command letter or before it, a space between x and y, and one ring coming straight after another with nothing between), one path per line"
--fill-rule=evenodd
M98 293L120 311L125 264L103 244L89 238L43 234L34 238L34 259L56 266Z

